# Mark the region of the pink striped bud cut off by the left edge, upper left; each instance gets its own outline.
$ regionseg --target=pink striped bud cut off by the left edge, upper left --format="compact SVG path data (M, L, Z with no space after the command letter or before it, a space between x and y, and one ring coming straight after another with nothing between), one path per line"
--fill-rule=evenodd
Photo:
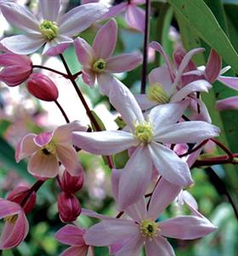
M31 59L26 55L15 55L13 53L0 55L0 66L3 67L0 72L0 81L9 86L23 83L32 72Z

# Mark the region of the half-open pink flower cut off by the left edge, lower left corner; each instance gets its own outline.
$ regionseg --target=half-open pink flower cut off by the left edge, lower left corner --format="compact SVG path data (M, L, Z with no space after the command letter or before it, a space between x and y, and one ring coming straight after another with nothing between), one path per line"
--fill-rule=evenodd
M29 224L26 214L19 204L0 198L0 219L5 224L0 237L0 250L16 247L26 238Z

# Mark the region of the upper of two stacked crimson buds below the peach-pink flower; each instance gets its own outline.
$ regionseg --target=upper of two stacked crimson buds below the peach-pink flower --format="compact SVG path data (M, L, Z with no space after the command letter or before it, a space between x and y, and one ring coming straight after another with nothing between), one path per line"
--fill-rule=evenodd
M80 172L78 176L71 176L69 172L65 171L61 177L61 189L67 193L76 193L82 189L83 179L83 172Z

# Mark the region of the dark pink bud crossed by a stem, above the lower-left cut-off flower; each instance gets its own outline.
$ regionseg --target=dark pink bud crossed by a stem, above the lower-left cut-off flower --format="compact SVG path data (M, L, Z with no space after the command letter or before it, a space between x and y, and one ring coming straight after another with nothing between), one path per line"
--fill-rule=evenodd
M26 195L29 193L29 188L26 186L19 186L8 195L8 201L14 201L18 204L21 204L22 201L25 201ZM23 206L24 212L27 214L33 210L36 205L37 195L33 191L31 195L28 196L26 203Z

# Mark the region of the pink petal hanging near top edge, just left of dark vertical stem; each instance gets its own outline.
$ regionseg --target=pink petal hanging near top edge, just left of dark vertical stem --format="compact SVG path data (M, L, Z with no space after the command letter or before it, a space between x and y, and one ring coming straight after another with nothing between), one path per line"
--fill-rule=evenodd
M129 4L126 10L127 24L140 32L144 32L144 9L137 7L135 4Z

